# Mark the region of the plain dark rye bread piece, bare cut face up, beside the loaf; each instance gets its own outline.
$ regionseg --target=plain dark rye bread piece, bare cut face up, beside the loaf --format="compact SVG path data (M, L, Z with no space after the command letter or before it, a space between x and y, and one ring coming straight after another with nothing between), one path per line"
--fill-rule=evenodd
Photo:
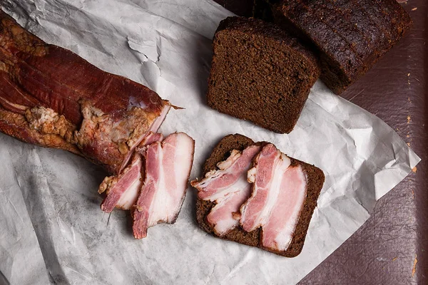
M290 133L320 76L315 56L285 31L229 17L213 40L208 105L276 133Z

